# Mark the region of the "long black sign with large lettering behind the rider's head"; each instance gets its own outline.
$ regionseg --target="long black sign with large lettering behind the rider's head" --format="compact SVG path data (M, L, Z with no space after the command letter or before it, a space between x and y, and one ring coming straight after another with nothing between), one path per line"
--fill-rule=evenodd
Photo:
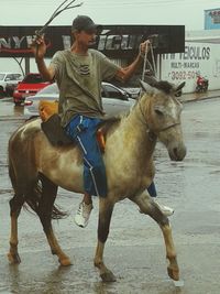
M0 26L0 57L33 56L30 48L37 26ZM184 52L184 25L105 25L95 48L112 58L130 58L141 42L157 36L155 53ZM46 56L72 45L70 26L48 26L45 34Z

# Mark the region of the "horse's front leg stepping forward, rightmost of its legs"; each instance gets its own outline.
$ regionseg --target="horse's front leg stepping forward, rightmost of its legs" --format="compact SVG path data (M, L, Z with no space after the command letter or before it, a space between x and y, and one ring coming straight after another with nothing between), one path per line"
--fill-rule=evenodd
M139 207L140 211L152 217L161 227L166 247L166 258L169 261L167 266L168 275L175 280L179 280L179 269L177 264L176 250L172 237L172 228L168 218L161 211L158 206L152 200L146 192L131 198Z

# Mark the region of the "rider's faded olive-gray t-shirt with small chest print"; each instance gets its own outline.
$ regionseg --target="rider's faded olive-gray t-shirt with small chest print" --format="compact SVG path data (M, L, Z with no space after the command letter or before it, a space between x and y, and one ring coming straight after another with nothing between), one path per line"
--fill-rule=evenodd
M59 88L59 116L65 127L76 115L102 117L101 81L110 80L119 66L96 50L79 55L58 51L51 65Z

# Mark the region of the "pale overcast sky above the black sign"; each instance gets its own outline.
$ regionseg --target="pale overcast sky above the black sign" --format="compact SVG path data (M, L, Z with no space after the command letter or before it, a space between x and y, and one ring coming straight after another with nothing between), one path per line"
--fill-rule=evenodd
M70 25L77 14L100 24L182 24L204 29L204 10L220 0L76 0L80 8L63 12L52 25ZM63 0L0 0L0 25L43 25ZM70 2L67 1L67 3Z

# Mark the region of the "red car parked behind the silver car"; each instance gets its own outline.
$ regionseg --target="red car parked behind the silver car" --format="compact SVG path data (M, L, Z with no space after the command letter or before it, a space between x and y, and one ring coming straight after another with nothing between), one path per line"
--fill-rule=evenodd
M26 96L35 95L50 84L50 81L44 81L40 74L28 74L13 91L14 104L21 105Z

